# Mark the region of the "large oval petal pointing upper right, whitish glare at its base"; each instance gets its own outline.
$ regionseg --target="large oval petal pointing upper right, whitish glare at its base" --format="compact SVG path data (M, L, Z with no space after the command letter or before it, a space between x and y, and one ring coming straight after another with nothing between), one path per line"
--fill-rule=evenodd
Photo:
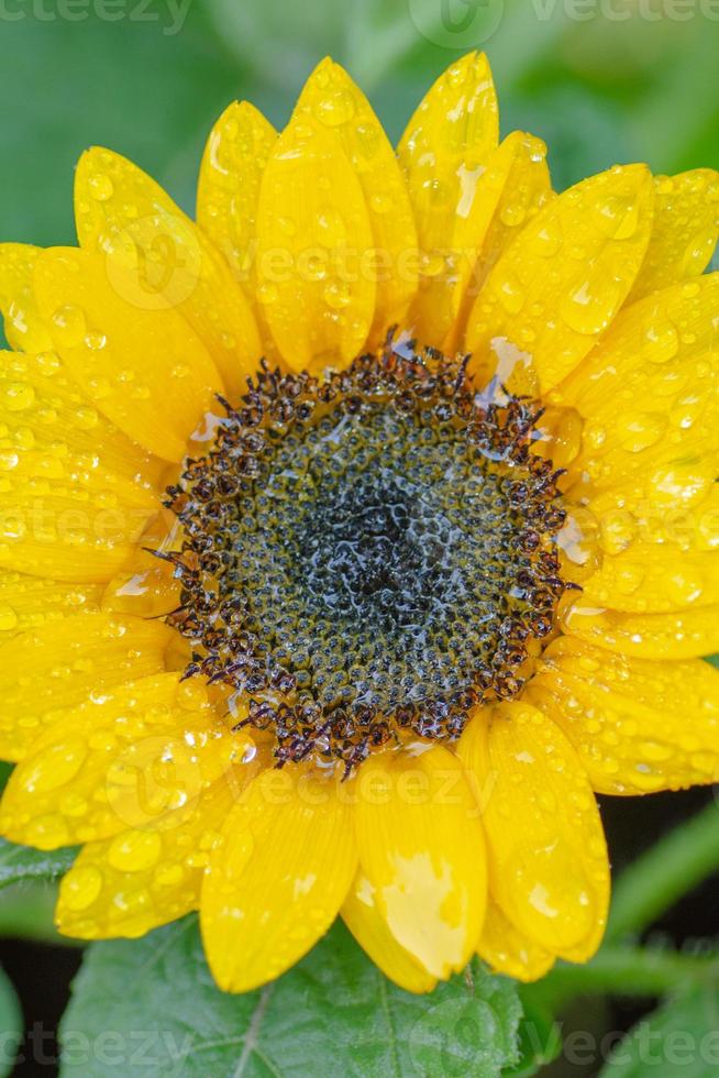
M465 348L488 380L546 392L589 352L623 304L652 223L643 165L600 173L549 202L519 232L479 293ZM529 370L528 370L529 365Z

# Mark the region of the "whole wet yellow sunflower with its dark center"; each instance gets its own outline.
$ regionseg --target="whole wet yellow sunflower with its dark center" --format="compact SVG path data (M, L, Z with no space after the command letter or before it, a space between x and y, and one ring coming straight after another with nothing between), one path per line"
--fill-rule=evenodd
M199 910L218 983L340 914L422 992L601 939L595 792L719 762L719 184L555 195L489 66L395 152L323 61L212 130L197 223L107 150L5 244L9 839L60 932Z

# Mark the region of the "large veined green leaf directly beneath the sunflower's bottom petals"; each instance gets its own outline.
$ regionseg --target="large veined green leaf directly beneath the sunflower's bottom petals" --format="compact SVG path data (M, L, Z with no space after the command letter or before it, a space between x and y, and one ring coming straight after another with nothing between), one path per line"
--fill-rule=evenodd
M491 1078L518 1059L515 985L479 964L430 997L390 985L341 923L261 991L212 982L195 917L92 945L63 1019L63 1078ZM108 1046L108 1031L112 1046Z

